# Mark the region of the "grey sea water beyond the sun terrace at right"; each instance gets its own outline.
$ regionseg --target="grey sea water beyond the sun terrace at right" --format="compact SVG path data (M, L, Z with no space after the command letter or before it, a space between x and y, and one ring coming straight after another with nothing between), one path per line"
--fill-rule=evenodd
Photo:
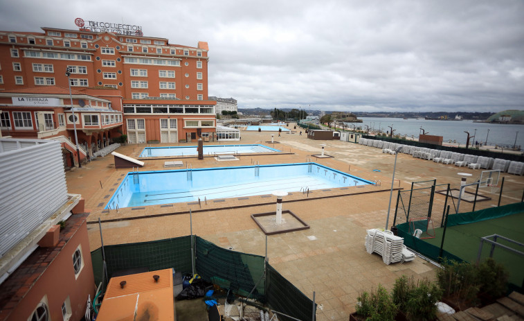
M471 120L462 121L437 121L425 119L399 119L399 118L375 118L361 117L362 123L354 123L356 127L361 126L364 130L365 125L370 130L389 131L391 126L393 135L407 135L408 137L418 138L422 134L421 128L426 135L442 136L444 142L456 142L460 145L466 145L467 133L469 136L475 136L469 144L482 143L482 146L503 146L512 148L521 146L524 149L524 125L499 124L499 123L473 123ZM487 142L487 144L486 144Z

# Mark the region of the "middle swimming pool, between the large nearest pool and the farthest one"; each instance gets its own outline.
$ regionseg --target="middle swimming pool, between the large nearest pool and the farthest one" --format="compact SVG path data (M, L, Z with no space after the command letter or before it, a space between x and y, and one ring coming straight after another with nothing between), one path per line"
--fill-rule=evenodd
M249 154L280 152L260 144L251 145L204 145L204 155L216 154ZM146 147L138 157L186 156L198 155L197 146L183 147Z

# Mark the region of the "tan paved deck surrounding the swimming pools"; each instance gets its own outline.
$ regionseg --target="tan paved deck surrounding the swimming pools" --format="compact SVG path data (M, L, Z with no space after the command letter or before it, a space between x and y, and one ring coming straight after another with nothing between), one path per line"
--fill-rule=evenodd
M243 131L241 135L242 141L239 144L271 141L271 132ZM292 193L283 200L282 209L293 211L311 228L268 236L269 262L310 298L313 297L313 291L316 291L316 302L320 304L317 320L347 320L354 311L359 290L370 290L379 283L391 288L399 275L414 275L417 279L434 277L435 266L422 259L386 266L381 257L368 254L364 248L365 229L383 228L386 225L395 155L383 154L379 148L344 141L314 141L307 139L307 135L287 132L282 132L279 143L262 144L280 149L285 154L241 155L240 160L231 163L231 166L250 165L255 161L260 164L306 162L311 155L321 153L320 144L326 144L325 153L333 158L313 158L314 162L380 183L379 186L312 191L309 197L303 193ZM231 144L231 141L224 144ZM133 144L122 146L117 151L137 157L144 147L145 144ZM190 164L192 168L224 166L224 162L217 162L213 157L205 157L203 160L184 157L176 160L182 160L183 167L186 164ZM140 171L164 170L165 161L165 158L145 159L145 166ZM458 188L458 172L473 174L468 178L468 183L476 180L481 173L480 170L437 164L399 154L394 187L410 189L412 182L437 179L437 184L451 183L451 188ZM264 255L265 235L251 219L251 214L275 211L274 197L227 198L219 202L207 200L207 204L202 200L200 205L198 202L190 202L118 211L104 210L103 207L107 205L125 173L127 170L114 168L111 155L66 173L69 193L82 194L86 199L86 207L91 212L88 218L91 223L88 225L91 250L100 247L98 224L94 224L98 222L98 218L104 222L102 233L105 244L132 243L188 235L188 213L191 209L193 233L223 248L231 247L240 252ZM524 177L509 174L503 176L506 179L501 205L519 202L524 189ZM467 190L474 193L472 188ZM489 189L480 189L479 192L490 196L491 200L478 202L476 209L496 206L498 195L490 194ZM393 193L390 225L395 212L396 193ZM443 196L435 196L435 202L443 200ZM471 211L472 206L463 202L460 211ZM308 236L315 236L316 239Z

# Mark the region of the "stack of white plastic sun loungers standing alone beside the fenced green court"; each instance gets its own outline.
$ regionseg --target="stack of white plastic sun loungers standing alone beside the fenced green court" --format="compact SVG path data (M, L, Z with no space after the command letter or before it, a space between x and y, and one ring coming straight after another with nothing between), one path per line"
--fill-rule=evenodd
M415 259L415 254L404 245L404 238L393 235L391 231L368 229L365 235L365 250L382 256L386 264L406 262Z

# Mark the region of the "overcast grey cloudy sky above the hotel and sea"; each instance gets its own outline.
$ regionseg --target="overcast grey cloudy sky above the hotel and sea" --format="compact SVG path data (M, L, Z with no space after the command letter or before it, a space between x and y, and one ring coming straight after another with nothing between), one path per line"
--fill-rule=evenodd
M524 1L0 1L0 30L143 27L210 48L209 94L239 107L524 110Z

